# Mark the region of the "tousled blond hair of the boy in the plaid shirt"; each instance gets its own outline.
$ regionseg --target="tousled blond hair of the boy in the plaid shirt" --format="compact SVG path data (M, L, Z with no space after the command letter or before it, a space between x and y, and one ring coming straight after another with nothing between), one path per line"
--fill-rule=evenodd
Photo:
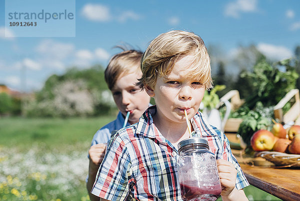
M212 87L210 59L202 39L186 31L169 31L157 36L145 50L140 69L142 77L136 83L140 89L145 85L154 89L158 76L168 75L178 58L192 55L190 77L202 81L205 89Z

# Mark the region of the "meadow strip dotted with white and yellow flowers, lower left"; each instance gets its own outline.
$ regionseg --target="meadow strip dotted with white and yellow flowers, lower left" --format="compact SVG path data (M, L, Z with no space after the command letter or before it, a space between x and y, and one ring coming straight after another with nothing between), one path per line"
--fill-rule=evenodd
M86 152L0 149L0 200L89 200ZM79 196L79 198L78 198Z

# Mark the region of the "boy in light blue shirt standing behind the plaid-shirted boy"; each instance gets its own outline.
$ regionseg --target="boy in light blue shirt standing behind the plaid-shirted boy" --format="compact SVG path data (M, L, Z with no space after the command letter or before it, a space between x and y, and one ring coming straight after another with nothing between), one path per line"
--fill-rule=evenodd
M105 82L112 93L113 100L119 109L114 121L100 128L93 136L89 148L89 169L87 190L91 200L99 197L90 194L99 164L101 164L106 144L110 140L111 132L122 128L125 115L130 112L126 126L138 122L139 117L149 106L150 97L144 90L135 85L141 77L140 59L142 53L127 50L114 55L104 72Z

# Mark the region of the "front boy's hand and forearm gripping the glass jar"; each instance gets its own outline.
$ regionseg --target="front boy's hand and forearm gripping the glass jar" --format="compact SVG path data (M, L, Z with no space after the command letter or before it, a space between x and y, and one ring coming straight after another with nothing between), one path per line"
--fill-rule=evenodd
M220 183L222 186L222 200L248 200L242 189L238 190L235 187L236 169L234 165L224 159L216 161L219 172Z

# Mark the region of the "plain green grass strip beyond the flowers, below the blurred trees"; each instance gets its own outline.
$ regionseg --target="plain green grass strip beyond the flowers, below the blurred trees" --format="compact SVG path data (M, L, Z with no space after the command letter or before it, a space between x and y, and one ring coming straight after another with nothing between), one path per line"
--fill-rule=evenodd
M63 151L64 146L90 143L97 129L113 119L112 116L67 119L1 118L0 145L16 146L20 149L42 145Z

